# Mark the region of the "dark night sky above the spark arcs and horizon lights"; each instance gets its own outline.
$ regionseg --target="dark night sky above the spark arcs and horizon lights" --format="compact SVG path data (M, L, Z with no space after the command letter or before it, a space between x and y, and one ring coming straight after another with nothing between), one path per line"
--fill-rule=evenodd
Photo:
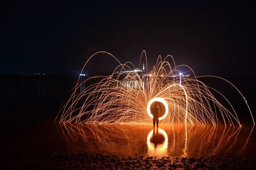
M99 50L138 64L146 50L150 66L170 53L197 74L253 75L254 2L1 2L0 74L73 74ZM115 64L98 57L87 71Z

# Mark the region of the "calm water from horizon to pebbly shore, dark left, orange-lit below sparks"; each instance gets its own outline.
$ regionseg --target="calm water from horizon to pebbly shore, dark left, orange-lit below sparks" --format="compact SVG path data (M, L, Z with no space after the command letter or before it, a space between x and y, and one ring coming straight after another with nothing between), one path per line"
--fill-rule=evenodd
M248 83L251 88L243 87L243 79L234 81L255 113L255 78ZM2 149L171 157L255 157L256 131L250 119L246 120L248 112L239 99L234 102L244 120L242 127L193 126L185 129L184 126L160 124L157 131L152 129L152 125L54 123L56 113L74 83L75 76L2 76ZM232 98L234 93L228 91L228 95Z

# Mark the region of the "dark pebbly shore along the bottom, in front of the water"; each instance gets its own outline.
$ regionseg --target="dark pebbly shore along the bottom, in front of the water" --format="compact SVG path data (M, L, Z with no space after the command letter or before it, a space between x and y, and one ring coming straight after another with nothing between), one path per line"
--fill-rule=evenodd
M171 158L40 151L1 152L1 169L256 169L256 159Z

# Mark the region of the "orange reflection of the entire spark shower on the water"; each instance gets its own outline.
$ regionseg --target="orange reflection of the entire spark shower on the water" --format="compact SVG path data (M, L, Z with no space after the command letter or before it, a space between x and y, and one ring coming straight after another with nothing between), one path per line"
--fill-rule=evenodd
M246 155L253 132L253 128L233 126L188 126L187 132L184 125L164 126L159 128L163 143L155 145L150 142L154 133L150 125L67 123L60 127L67 146L76 152L170 157Z

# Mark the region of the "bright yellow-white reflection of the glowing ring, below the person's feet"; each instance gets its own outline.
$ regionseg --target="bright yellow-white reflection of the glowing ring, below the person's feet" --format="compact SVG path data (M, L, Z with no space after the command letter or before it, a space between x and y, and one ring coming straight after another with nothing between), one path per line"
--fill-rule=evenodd
M158 131L158 132L156 132ZM156 133L156 134L154 134ZM160 144L154 144L150 141L151 138L158 138L159 134L162 134L164 136L164 142L160 143ZM156 135L156 136L154 136ZM153 129L152 131L150 131L148 133L147 136L147 146L148 146L148 155L160 155L160 156L164 156L164 155L168 155L167 149L168 149L168 135L166 134L166 132L161 129L158 128L157 129Z

